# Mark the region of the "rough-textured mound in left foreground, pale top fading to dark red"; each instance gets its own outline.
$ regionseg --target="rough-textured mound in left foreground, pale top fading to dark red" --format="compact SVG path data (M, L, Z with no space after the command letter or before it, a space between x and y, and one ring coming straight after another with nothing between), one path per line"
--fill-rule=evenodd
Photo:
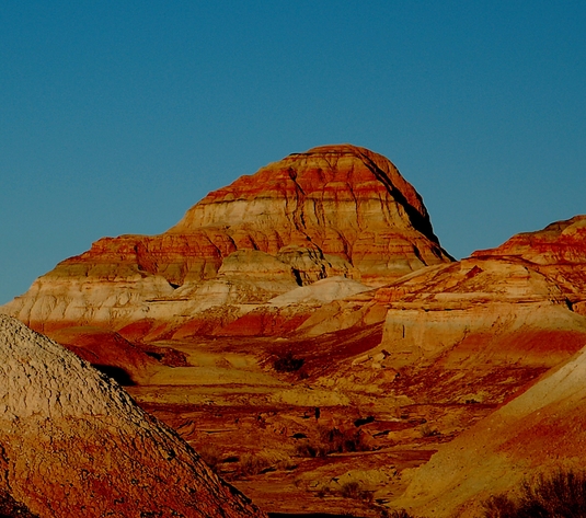
M4 315L0 453L2 502L38 517L264 516L118 385Z

